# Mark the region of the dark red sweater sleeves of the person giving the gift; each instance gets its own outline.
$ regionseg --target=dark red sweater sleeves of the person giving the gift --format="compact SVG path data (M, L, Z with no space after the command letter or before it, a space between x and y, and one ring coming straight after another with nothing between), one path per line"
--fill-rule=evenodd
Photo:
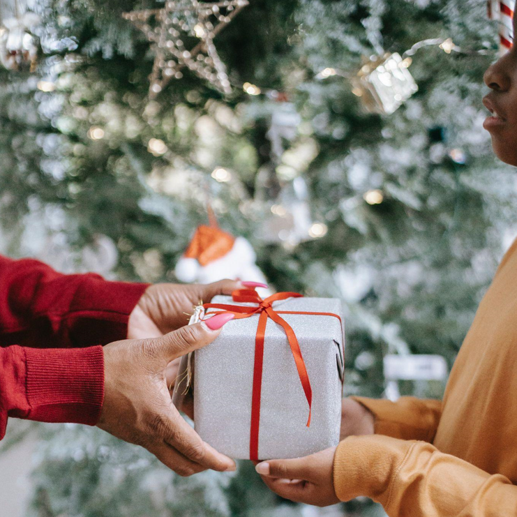
M126 338L146 288L0 255L0 440L8 417L96 424L104 396L100 345Z

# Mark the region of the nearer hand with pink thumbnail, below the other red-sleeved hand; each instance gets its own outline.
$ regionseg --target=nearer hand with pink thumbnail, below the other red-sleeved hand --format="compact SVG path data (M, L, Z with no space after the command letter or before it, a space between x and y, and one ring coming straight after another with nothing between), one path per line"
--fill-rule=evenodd
M203 442L181 417L166 378L171 361L211 343L232 317L216 315L165 336L106 345L105 396L97 426L141 445L181 476L206 469L235 470L232 459Z

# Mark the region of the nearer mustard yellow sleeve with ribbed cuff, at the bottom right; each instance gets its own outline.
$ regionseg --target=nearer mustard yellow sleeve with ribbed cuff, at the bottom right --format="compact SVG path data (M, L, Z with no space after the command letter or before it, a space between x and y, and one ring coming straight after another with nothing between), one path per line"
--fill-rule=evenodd
M426 442L350 436L334 457L342 501L366 495L389 517L515 517L517 486Z

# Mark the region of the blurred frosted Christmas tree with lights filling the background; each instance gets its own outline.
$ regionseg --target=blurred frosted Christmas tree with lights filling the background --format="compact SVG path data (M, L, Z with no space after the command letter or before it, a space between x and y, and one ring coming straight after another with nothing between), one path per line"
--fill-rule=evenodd
M221 5L216 52L200 59L211 29L188 0L172 13L145 0L29 7L38 60L0 70L3 253L175 281L210 204L276 290L343 299L345 394L382 396L386 354L451 366L516 220L512 171L481 128L498 43L484 0ZM386 52L418 91L367 112L357 73ZM269 493L250 463L182 479L96 429L40 433L30 515L331 515ZM331 511L380 512L344 508Z

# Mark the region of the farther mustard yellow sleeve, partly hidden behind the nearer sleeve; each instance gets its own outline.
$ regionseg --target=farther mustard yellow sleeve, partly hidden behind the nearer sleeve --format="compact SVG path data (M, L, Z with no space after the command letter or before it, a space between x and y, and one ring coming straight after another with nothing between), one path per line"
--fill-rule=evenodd
M375 416L375 434L432 442L442 414L441 400L401 397L391 400L352 397Z

